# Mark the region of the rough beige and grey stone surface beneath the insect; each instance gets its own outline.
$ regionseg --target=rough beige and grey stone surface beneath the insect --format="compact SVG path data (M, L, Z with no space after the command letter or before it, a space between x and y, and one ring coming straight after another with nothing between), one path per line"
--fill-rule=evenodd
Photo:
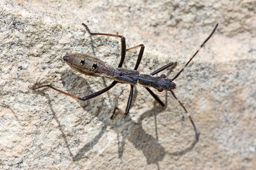
M162 108L140 86L130 114L122 110L130 85L79 97L111 83L72 70L64 55L82 53L110 65L144 44L139 71L170 62L168 78L184 66L219 22L216 33L175 79L176 96L159 93ZM253 169L256 166L255 1L21 1L0 0L0 169ZM134 68L139 49L126 53ZM158 74L158 76L161 73ZM184 117L182 116L184 115Z

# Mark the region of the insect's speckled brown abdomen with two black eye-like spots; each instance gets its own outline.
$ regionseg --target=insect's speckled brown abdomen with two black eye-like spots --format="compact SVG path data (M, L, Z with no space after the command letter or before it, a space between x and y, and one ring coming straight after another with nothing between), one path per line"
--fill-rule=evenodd
M104 76L108 65L98 58L86 54L70 54L63 57L72 69L88 76Z

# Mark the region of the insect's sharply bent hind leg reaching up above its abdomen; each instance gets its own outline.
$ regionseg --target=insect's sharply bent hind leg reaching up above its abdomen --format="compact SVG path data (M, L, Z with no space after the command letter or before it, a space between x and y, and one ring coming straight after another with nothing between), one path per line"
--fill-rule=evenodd
M123 63L124 63L124 58L125 58L125 52L126 52L126 43L125 43L125 38L121 35L117 34L109 34L109 33L92 33L88 26L82 23L83 26L85 26L86 30L88 31L89 34L91 35L106 35L106 36L111 36L111 37L119 37L121 38L121 61L118 64L118 67L121 68Z

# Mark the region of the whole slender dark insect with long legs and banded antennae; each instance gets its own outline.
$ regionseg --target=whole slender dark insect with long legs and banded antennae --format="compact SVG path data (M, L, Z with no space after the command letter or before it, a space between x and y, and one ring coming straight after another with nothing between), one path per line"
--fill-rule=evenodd
M188 63L186 63L186 65L177 73L177 75L174 78L166 78L166 76L164 74L162 74L161 76L156 76L153 77L154 75L156 75L157 73L172 67L172 65L174 63L169 63L166 64L165 66L155 70L154 72L150 73L150 74L145 74L142 72L137 71L139 65L140 65L140 61L142 59L142 55L144 52L144 45L140 44L138 46L132 47L132 48L128 48L126 49L126 43L125 43L125 38L121 35L118 34L108 34L108 33L91 33L91 31L89 30L88 26L86 26L84 23L82 23L83 26L85 26L86 30L88 31L88 33L90 33L90 35L106 35L106 36L112 36L112 37L119 37L121 38L121 61L118 64L118 67L113 67L108 65L107 63L101 61L98 58L95 58L93 56L90 55L86 55L86 54L70 54L70 55L65 55L63 57L63 60L65 61L65 63L67 63L72 69L88 75L88 76L95 76L95 77L105 77L105 78L110 78L113 79L114 81L106 88L98 91L98 92L94 92L90 95L84 96L82 98L74 96L72 94L69 94L67 92L63 92L59 89L56 89L55 87L53 87L52 85L42 85L36 88L33 88L33 90L42 88L42 87L50 87L53 90L56 90L58 92L61 92L63 94L66 94L68 96L71 96L75 99L78 100L89 100L92 99L94 97L97 97L105 92L107 92L109 89L111 89L112 87L114 87L117 83L127 83L131 85L131 90L130 90L130 95L129 95L129 99L127 102L127 106L125 109L125 112L123 112L121 109L119 109L118 107L116 107L114 109L114 113L116 109L118 111L120 111L121 113L123 113L124 115L127 115L129 113L130 107L131 107L131 103L132 103L132 95L133 95L133 87L134 85L141 85L143 87L146 88L146 90L153 96L153 98L162 106L165 107L165 104L157 97L157 95L152 92L149 87L153 87L155 89L157 89L158 92L163 92L165 91L170 91L172 93L172 96L180 103L181 107L185 110L185 112L188 115L188 118L190 120L190 122L193 125L194 131L195 131L195 135L196 135L196 141L199 141L199 135L196 129L196 125L193 122L191 116L189 115L187 109L184 107L184 105L180 102L180 100L175 96L174 92L172 90L176 89L176 85L175 83L173 83L173 80L175 80L180 73L187 67L187 65L189 64L189 62L196 56L196 54L199 52L199 50L204 46L204 44L212 37L213 33L216 31L218 24L216 24L216 26L214 27L212 33L208 36L208 38L201 44L200 48L196 51L196 53L190 58L190 60L188 61ZM133 70L130 69L125 69L122 68L122 65L124 63L124 58L125 58L125 52L129 51L131 49L134 48L139 48L140 47L140 53L138 55L137 58L137 62L135 64L135 67ZM111 116L111 118L113 117L113 115Z

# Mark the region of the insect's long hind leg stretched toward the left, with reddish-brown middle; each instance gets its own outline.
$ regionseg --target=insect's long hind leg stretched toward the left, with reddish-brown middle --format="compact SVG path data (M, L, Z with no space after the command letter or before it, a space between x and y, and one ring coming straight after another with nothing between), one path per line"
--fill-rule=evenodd
M111 85L109 85L108 87L106 87L106 88L104 88L104 89L102 89L102 90L100 90L100 91L98 91L98 92L94 92L94 93L92 93L92 94L90 94L90 95L84 96L84 97L82 97L82 98L81 98L81 97L74 96L74 95L69 94L69 93L67 93L67 92L63 92L63 91L61 91L61 90L59 90L59 89L56 89L56 88L53 87L52 85L42 85L42 86L40 86L40 87L33 88L33 90L36 90L36 89L39 89L39 88L42 88L42 87L50 87L51 89L56 90L57 92L61 92L61 93L66 94L66 95L68 95L68 96L70 96L70 97L73 97L73 98L75 98L75 99L78 99L78 100L89 100L89 99L92 99L92 98L94 98L94 97L97 97L97 96L99 96L99 95L101 95L101 94L107 92L109 89L111 89L112 87L114 87L114 86L116 85L116 83L117 83L117 81L113 81L113 82L111 83Z

